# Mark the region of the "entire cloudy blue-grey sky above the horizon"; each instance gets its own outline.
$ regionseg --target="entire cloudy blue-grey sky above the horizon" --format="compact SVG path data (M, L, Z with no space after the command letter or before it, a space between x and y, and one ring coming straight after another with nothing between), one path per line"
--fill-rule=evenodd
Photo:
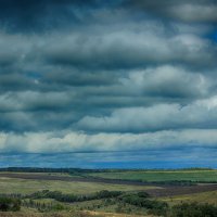
M216 0L0 0L0 167L217 167Z

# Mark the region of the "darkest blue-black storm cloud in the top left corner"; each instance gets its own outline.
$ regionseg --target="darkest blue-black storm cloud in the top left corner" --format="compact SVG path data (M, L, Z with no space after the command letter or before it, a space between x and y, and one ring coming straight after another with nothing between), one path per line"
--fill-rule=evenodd
M82 23L79 14L95 5L94 0L1 0L0 23L15 31L47 30Z

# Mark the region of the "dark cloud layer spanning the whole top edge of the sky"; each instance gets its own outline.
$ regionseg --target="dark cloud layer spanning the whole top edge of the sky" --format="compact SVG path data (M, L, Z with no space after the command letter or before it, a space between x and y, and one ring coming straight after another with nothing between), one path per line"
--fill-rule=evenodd
M10 31L47 31L56 28L80 28L92 23L125 20L140 22L144 11L155 18L159 15L183 22L217 22L214 0L151 1L151 0L1 0L0 25ZM132 11L136 9L137 11Z

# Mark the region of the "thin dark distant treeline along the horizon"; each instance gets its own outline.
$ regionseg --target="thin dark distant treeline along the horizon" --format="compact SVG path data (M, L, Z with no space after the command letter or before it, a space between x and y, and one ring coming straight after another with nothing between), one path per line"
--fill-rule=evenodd
M41 167L7 167L0 168L0 171L14 171L14 173L120 173L120 171L177 171L177 170L214 170L214 168L191 167L178 169L82 169L82 168L41 168Z

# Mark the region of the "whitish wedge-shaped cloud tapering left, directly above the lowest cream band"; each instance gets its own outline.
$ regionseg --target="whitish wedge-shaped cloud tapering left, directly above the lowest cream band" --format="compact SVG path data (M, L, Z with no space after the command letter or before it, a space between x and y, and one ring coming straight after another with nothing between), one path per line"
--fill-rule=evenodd
M78 122L81 129L92 131L155 131L179 128L217 127L217 97L181 106L155 104L150 107L118 108L111 116L86 116ZM210 106L212 105L212 106Z

